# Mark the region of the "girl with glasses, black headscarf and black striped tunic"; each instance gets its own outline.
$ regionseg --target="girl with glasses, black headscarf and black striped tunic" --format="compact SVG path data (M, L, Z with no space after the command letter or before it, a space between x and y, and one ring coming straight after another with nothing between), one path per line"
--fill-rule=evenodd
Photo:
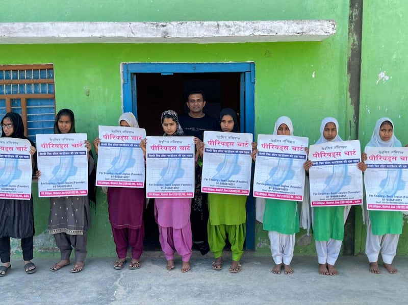
M27 139L24 136L24 125L19 114L7 113L1 122L2 138ZM29 140L30 141L30 140ZM30 141L30 154L35 167L34 143ZM3 266L0 267L0 277L5 276L11 269L10 265L10 237L21 239L24 270L27 273L36 271L33 259L34 238L34 209L33 197L30 200L0 199L0 257Z

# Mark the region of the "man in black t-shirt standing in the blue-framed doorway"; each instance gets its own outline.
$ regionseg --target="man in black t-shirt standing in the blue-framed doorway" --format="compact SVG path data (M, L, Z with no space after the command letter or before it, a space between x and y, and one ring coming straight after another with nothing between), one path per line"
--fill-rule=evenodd
M186 103L190 111L179 117L180 125L186 136L194 136L202 141L204 131L219 129L217 120L203 113L206 99L201 90L190 91ZM201 193L201 167L196 165L195 193L191 202L190 221L194 246L200 250L202 255L210 250L207 237L207 198L206 193Z

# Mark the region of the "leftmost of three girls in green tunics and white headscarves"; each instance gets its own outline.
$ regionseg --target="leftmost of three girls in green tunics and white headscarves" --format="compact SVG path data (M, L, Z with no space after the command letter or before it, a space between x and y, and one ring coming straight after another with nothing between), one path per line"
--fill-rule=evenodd
M293 136L291 119L287 116L279 117L275 122L273 134ZM258 150L252 152L253 159L256 159L257 153ZM290 160L279 160L279 164L286 161ZM295 247L295 235L299 232L298 203L289 200L266 199L264 211L263 228L268 231L272 258L275 262L272 273L281 274L283 265L285 274L292 274L293 269L290 263Z

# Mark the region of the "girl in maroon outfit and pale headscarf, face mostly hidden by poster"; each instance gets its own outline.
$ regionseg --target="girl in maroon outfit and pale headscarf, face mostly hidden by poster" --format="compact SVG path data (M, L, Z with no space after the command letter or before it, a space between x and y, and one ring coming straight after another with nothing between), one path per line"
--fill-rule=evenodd
M139 128L136 117L131 112L123 113L119 117L119 126ZM100 139L93 141L96 154L98 153ZM112 226L113 240L116 245L117 260L113 268L120 270L126 264L127 246L132 249L132 261L129 269L140 267L140 257L143 251L143 207L144 189L109 187L108 188L108 213Z

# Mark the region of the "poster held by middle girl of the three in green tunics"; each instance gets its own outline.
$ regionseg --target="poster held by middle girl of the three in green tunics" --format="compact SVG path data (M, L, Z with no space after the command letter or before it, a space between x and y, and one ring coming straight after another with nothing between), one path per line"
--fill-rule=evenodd
M327 142L311 145L309 160L312 207L360 205L363 201L363 175L360 141Z

